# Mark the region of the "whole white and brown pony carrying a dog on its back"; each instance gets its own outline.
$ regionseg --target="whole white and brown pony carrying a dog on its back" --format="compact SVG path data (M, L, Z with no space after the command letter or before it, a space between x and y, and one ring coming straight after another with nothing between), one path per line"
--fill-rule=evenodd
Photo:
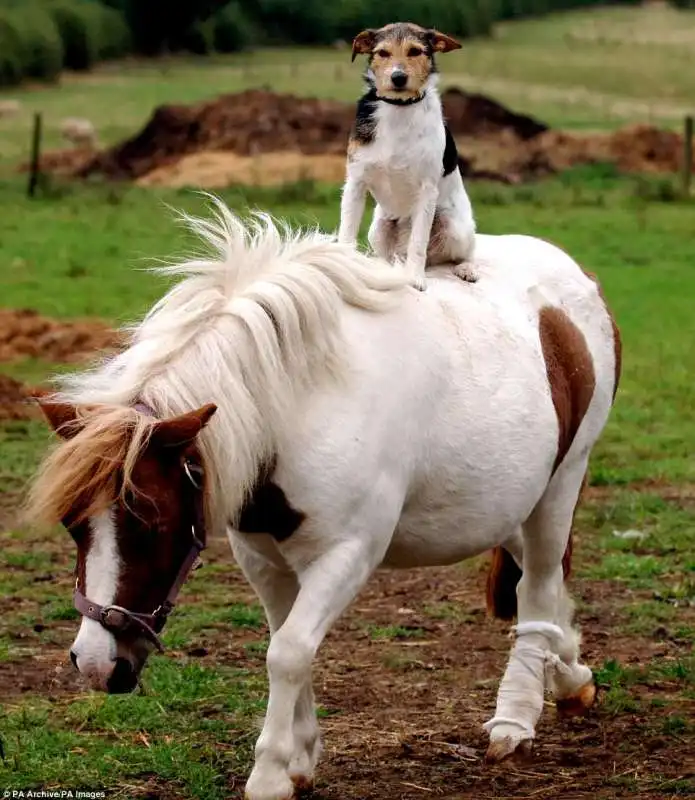
M478 283L439 268L422 294L329 236L221 205L192 224L214 256L168 268L127 349L41 400L61 439L29 508L76 541L89 684L135 687L226 531L271 631L249 800L311 783L312 661L379 567L495 550L491 606L518 624L490 759L528 746L544 689L590 705L563 560L620 368L597 283L525 236L479 236Z

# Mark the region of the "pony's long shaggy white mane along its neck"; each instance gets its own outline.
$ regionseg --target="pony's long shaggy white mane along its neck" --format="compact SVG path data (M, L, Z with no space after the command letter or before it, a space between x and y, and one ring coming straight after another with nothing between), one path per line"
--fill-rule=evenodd
M265 214L244 224L213 201L211 220L184 216L212 257L160 268L183 279L131 328L125 351L63 378L60 394L75 404L140 401L161 418L216 403L200 445L219 530L300 393L339 374L343 303L384 309L406 281L332 236L293 232Z

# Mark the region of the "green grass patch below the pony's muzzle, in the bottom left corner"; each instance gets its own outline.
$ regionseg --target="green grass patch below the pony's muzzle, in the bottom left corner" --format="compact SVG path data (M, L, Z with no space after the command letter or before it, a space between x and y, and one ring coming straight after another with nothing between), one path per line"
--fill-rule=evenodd
M0 706L0 780L47 789L70 776L72 786L125 789L156 776L171 791L226 798L225 776L248 760L252 744L240 732L262 712L262 698L262 682L247 672L153 658L144 693L77 697L59 708L37 698Z

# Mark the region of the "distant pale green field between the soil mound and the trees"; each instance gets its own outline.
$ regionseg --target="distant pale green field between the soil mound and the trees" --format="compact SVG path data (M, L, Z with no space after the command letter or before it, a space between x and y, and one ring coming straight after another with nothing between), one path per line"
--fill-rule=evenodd
M606 8L499 25L440 59L445 85L491 94L555 127L605 128L636 120L680 124L692 111L695 20L670 8ZM156 105L193 103L245 88L354 100L362 65L350 51L260 51L213 59L105 65L60 86L3 92L23 103L0 120L0 161L26 158L31 114L44 114L46 146L60 121L88 117L105 144L131 135Z

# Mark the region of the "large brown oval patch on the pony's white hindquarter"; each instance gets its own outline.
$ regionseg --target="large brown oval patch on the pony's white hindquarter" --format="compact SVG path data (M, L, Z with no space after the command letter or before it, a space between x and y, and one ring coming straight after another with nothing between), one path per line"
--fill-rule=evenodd
M596 376L584 334L562 309L542 308L538 329L559 429L555 472L572 446L589 408Z

